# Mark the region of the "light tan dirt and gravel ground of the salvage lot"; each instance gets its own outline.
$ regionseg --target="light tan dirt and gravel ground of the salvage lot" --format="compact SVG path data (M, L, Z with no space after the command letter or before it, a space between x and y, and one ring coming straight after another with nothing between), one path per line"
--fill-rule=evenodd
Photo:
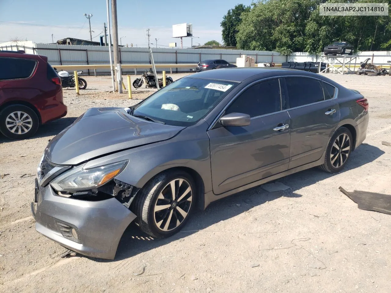
M178 79L183 75L171 75ZM65 89L65 118L32 139L0 137L1 292L390 292L391 216L357 208L339 191L391 194L391 77L327 77L369 100L367 138L343 172L312 168L279 179L290 189L249 189L198 211L168 239L151 240L131 224L113 261L67 250L35 231L34 176L51 139L90 107L129 106L109 93L109 77ZM132 76L134 78L134 76Z

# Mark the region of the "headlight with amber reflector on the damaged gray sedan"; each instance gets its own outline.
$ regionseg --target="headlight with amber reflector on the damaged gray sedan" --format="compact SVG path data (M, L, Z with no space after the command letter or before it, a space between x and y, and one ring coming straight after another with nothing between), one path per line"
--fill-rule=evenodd
M97 188L121 173L127 162L126 160L86 170L82 165L60 175L50 185L57 191L70 192Z

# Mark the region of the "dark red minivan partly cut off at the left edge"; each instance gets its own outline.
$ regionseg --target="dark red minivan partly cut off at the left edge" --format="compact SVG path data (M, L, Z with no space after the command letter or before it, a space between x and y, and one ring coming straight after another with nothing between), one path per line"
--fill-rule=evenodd
M34 135L39 125L66 115L61 79L42 55L0 51L0 132Z

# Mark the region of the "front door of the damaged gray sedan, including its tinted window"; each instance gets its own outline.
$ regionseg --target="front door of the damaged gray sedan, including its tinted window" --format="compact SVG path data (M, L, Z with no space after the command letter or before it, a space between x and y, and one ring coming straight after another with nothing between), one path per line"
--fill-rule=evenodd
M284 101L280 79L256 82L237 96L224 113L249 114L250 124L217 125L208 130L215 194L287 170L290 134L285 128L289 114L282 111Z

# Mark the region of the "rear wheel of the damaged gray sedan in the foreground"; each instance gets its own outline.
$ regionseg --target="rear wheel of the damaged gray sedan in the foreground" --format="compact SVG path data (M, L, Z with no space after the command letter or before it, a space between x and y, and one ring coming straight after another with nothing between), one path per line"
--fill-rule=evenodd
M326 172L339 172L346 165L352 148L353 139L350 130L346 127L339 128L328 143L325 163L319 167Z

